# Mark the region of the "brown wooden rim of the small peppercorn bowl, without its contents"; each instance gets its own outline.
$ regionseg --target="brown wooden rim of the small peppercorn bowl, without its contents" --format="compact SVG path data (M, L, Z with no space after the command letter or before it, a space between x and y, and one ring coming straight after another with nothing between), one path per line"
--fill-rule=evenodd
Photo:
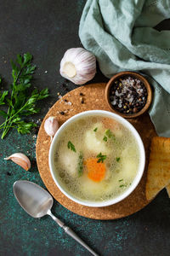
M110 100L111 85L117 79L121 79L122 77L125 77L125 76L130 76L130 77L133 77L135 79L139 79L144 84L144 86L145 86L145 88L148 92L147 101L144 105L144 108L142 108L137 113L121 113L117 109L115 109L114 106L111 104L111 100ZM146 79L144 79L144 77L142 75L140 75L139 73L131 72L131 71L125 71L125 72L121 72L121 73L116 73L116 75L114 75L109 80L109 82L107 83L107 85L105 87L105 100L106 100L106 102L107 102L107 104L108 104L108 106L109 106L109 108L111 109L112 112L121 115L123 118L132 119L132 118L136 118L139 115L143 114L144 112L146 112L148 110L148 108L150 108L150 104L151 104L151 101L152 101L152 90L151 90L150 84L148 83L148 81Z

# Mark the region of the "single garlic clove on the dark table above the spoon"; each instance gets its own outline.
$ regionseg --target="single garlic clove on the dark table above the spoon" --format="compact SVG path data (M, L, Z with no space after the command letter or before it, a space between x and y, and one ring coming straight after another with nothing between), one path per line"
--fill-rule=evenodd
M23 169L28 171L31 168L31 162L26 154L14 153L4 158L4 160L12 160L15 164L21 166Z

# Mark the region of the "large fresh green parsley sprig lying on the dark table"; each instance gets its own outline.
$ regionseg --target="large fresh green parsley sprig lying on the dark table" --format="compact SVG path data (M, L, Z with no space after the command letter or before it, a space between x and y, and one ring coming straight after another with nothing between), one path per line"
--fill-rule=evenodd
M48 97L48 89L40 92L35 89L30 92L32 74L35 72L36 65L31 63L32 55L26 53L23 56L17 55L16 61L11 61L12 78L11 90L4 90L0 94L0 105L7 105L8 111L0 111L0 115L5 121L0 125L3 130L2 139L7 135L10 128L15 128L19 133L26 134L37 126L33 122L26 122L26 116L38 113L37 102Z

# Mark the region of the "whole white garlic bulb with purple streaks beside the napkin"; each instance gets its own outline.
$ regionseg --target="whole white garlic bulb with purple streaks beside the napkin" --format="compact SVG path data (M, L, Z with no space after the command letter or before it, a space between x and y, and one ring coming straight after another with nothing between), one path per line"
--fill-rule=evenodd
M94 78L96 58L83 48L67 49L60 62L59 73L74 84L85 84Z

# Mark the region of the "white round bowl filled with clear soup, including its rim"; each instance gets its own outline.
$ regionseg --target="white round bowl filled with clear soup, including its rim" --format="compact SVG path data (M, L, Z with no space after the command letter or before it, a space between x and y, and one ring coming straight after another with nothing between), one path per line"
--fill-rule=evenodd
M144 144L126 119L91 110L71 117L49 149L54 183L72 201L106 207L124 200L144 172Z

